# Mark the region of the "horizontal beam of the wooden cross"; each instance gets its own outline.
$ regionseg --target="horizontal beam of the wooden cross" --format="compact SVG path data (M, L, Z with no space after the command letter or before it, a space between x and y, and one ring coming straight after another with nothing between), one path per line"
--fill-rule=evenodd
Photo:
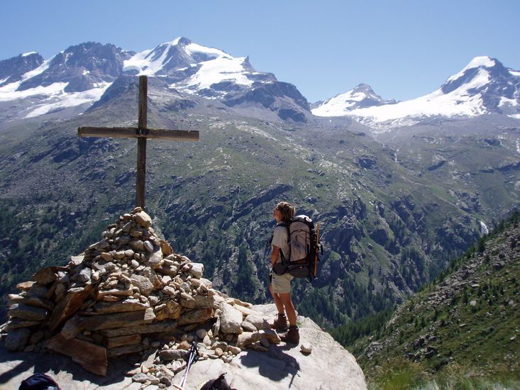
M80 127L77 129L79 137L110 137L110 138L148 138L160 140L199 140L198 130L165 130L160 128L102 128Z

